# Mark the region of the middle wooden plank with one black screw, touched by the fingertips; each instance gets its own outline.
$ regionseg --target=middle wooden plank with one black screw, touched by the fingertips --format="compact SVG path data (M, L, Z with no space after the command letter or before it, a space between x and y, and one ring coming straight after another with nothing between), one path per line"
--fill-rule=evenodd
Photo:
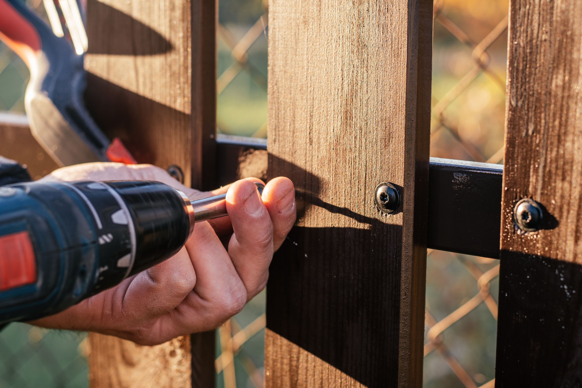
M431 44L432 1L269 5L269 176L300 211L270 270L267 386L421 386Z

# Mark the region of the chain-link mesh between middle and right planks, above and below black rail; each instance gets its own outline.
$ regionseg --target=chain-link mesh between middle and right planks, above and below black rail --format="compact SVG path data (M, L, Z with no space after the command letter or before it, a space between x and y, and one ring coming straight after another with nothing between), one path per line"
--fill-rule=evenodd
M503 159L508 1L436 0L431 155ZM430 251L424 386L493 387L499 262Z

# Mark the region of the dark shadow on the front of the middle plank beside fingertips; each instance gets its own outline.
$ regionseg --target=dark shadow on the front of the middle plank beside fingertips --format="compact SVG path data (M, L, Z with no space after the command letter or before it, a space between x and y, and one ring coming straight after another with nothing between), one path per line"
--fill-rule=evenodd
M267 328L365 386L396 386L402 226L322 201L317 176L269 158L286 163L294 183L308 188L296 186L298 223L269 268ZM301 226L313 207L351 218L357 227ZM276 385L288 361L271 362Z

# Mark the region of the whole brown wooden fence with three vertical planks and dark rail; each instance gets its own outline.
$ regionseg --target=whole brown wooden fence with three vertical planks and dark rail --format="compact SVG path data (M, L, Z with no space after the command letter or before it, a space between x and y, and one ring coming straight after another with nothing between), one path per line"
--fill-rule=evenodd
M109 135L193 187L265 168L296 184L267 386L420 387L427 247L501 259L498 387L582 384L582 3L511 0L509 16L501 170L428 156L431 0L271 0L267 167L215 134L215 0L89 0L87 104ZM90 341L93 387L214 385L214 333Z

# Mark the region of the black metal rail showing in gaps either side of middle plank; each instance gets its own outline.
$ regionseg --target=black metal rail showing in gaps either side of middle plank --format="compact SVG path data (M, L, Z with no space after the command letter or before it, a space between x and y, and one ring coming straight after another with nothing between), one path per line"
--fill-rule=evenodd
M217 138L220 184L238 178L240 158L267 141L239 136ZM503 166L431 158L428 180L428 247L499 258Z

